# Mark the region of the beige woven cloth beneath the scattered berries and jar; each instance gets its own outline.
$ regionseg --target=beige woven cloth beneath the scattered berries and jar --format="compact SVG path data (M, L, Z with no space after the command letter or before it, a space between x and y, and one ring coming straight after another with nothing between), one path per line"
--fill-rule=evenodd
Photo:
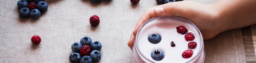
M0 0L0 63L70 63L71 44L83 36L102 43L99 63L131 63L127 46L131 32L143 12L157 5L155 0L141 0L138 5L131 5L130 0L97 5L89 0L46 0L47 12L32 20L19 18L17 1ZM92 15L100 17L96 28L89 24ZM40 45L31 43L33 35L41 37ZM254 63L253 47L250 27L226 31L205 40L205 63Z

